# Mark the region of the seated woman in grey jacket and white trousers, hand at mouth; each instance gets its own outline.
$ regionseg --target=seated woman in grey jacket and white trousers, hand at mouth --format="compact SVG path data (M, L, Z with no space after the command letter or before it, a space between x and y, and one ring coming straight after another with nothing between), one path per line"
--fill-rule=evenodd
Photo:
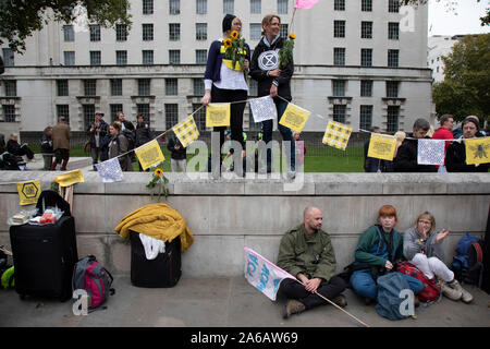
M469 303L473 296L461 287L454 278L454 273L443 262L442 242L449 232L446 229L436 232L436 219L430 213L425 212L418 215L415 226L404 232L403 254L427 278L433 279L434 276L439 276L443 280L442 294L454 301L461 299Z

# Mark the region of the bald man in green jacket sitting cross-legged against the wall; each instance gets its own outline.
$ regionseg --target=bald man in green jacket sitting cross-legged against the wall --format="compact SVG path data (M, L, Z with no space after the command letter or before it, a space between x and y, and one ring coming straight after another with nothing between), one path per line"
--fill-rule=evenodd
M339 306L347 304L341 294L346 285L334 276L335 254L330 236L321 230L323 216L318 207L308 206L303 213L303 224L289 230L281 239L278 266L295 276L284 279L279 291L289 300L283 310L283 317L301 313L305 310L328 304L320 293Z

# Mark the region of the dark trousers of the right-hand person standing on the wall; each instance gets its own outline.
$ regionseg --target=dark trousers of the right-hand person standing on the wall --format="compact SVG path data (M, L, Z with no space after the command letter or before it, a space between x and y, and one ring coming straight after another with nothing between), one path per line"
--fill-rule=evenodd
M289 141L291 145L291 155L287 158L286 156L286 164L287 167L294 171L295 165L296 165L296 154L295 154L295 146L294 146L294 140L293 140L293 132L291 129L283 127L279 122L281 121L282 116L284 115L284 110L287 108L287 101L283 99L274 99L275 109L278 110L278 129L279 132L282 135L283 141ZM264 142L266 142L266 145L269 144L270 141L272 141L272 129L273 129L273 120L266 120L262 121L262 129L264 129ZM272 169L272 149L267 149L267 171L271 172Z

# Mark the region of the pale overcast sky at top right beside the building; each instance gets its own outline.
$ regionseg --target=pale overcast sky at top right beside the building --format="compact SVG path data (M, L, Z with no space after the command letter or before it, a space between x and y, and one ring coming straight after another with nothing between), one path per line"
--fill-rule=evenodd
M446 11L445 2L429 1L429 36L490 33L490 26L480 26L479 20L490 7L490 0L454 1L457 2L454 12Z

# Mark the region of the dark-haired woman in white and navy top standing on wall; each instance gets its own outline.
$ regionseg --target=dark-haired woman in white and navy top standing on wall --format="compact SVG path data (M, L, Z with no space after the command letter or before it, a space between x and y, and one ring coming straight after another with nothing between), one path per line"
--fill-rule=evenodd
M206 93L201 99L203 106L208 106L209 103L233 103L243 100L243 103L233 103L231 105L230 128L232 141L237 141L245 149L245 142L243 140L243 111L248 95L248 86L246 82L246 73L248 72L248 62L250 60L250 48L245 44L245 56L243 65L240 63L232 67L233 63L229 59L224 59L226 50L224 41L231 39L231 33L236 32L238 35L242 32L242 21L232 15L226 14L222 23L223 38L212 41L209 48L208 61L206 63L205 72L205 89ZM236 35L236 34L235 34ZM240 52L238 52L240 53ZM224 143L224 131L226 127L213 128L213 131L220 133L220 166L221 166L221 147ZM212 152L213 149L211 149ZM242 157L245 151L242 152ZM213 171L215 172L215 171Z

